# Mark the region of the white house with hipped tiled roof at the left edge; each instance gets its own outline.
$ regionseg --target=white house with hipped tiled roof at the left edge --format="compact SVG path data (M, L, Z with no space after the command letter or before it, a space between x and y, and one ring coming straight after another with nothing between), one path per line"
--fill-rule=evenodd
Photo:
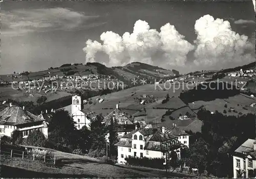
M25 138L35 130L40 130L48 137L48 123L45 119L26 111L24 107L10 104L0 112L0 135L11 137L14 130L22 131Z

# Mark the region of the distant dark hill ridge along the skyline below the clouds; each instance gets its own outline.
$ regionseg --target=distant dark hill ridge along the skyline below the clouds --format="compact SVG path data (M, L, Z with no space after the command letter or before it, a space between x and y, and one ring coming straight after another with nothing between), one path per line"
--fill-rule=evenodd
M176 73L178 71L174 70ZM127 81L134 78L157 78L165 76L173 76L174 72L166 70L157 66L152 66L144 63L134 62L123 67L106 67L100 63L87 63L83 64L63 64L60 67L50 67L48 70L37 71L37 72L22 72L0 75L0 82L11 82L11 81L24 81L24 80L38 80L44 77L51 76L82 76L88 74L101 74L111 75L114 78Z

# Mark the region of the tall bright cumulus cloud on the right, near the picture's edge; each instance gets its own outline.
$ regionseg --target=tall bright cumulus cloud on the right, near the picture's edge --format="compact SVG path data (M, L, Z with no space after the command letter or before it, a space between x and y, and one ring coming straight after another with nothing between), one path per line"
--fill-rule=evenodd
M253 45L245 35L231 30L230 23L205 15L195 23L195 64L213 66L230 62L249 62L253 60Z

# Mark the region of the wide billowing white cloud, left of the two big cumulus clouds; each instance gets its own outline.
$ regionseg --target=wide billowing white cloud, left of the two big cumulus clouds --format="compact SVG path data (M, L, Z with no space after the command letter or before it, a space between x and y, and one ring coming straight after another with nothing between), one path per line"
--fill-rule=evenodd
M114 32L104 32L102 41L86 42L83 51L87 62L100 62L109 66L119 66L139 61L152 65L184 65L188 52L194 46L179 34L174 25L169 23L161 27L160 32L150 29L146 21L137 20L133 33L125 32L122 36ZM109 59L97 59L97 53L105 53Z

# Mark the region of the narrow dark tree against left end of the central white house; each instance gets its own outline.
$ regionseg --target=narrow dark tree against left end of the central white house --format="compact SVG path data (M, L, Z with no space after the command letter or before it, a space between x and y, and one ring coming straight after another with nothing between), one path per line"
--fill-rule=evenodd
M115 144L119 142L117 125L116 120L111 120L109 127L110 156L117 156L117 146L115 146Z

